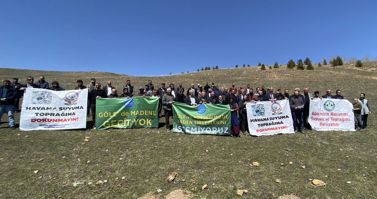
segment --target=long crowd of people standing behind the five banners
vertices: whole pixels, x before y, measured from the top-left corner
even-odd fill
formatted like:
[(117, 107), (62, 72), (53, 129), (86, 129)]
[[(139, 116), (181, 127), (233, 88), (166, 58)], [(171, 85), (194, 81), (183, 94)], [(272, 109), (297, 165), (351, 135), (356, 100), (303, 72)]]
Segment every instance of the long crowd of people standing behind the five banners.
[[(22, 85), (18, 83), (18, 78), (13, 78), (13, 82), (9, 80), (3, 81), (3, 86), (0, 88), (0, 116), (4, 112), (8, 114), (9, 127), (15, 129), (14, 126), (14, 113), (20, 112), (19, 102), (20, 98), (23, 96), (23, 91), (28, 88), (41, 88), (54, 91), (64, 91), (65, 89), (59, 86), (59, 82), (54, 81), (51, 83), (52, 87), (49, 87), (49, 83), (45, 81), (44, 76), (39, 77), (39, 81), (34, 84), (34, 77), (26, 77), (27, 84)], [(98, 98), (130, 98), (134, 96), (142, 97), (158, 97), (159, 107), (158, 107), (158, 118), (161, 117), (161, 110), (164, 110), (164, 117), (166, 123), (167, 132), (170, 132), (169, 118), (173, 117), (172, 103), (180, 102), (185, 103), (190, 106), (195, 106), (199, 104), (219, 104), (226, 105), (230, 107), (231, 111), (231, 135), (239, 137), (241, 124), (242, 134), (246, 134), (247, 129), (247, 103), (257, 103), (262, 101), (277, 101), (277, 100), (289, 100), (294, 132), (300, 131), (305, 134), (305, 130), (311, 130), (311, 126), (308, 123), (309, 117), (309, 105), (310, 99), (344, 99), (341, 95), (341, 90), (336, 90), (336, 95), (331, 94), (331, 90), (326, 90), (326, 94), (319, 97), (319, 91), (314, 91), (314, 95), (309, 93), (308, 88), (303, 89), (303, 94), (300, 94), (300, 88), (295, 88), (294, 93), (290, 95), (289, 90), (285, 89), (282, 93), (281, 89), (274, 92), (274, 88), (270, 87), (265, 90), (264, 86), (256, 87), (256, 92), (254, 93), (253, 88), (250, 84), (244, 89), (242, 85), (239, 89), (233, 82), (229, 87), (215, 86), (214, 83), (208, 85), (206, 82), (204, 88), (202, 85), (191, 84), (190, 88), (187, 89), (186, 95), (184, 95), (184, 87), (182, 83), (179, 83), (177, 89), (175, 85), (170, 83), (168, 87), (165, 88), (166, 84), (161, 83), (161, 87), (158, 89), (154, 88), (152, 80), (149, 80), (147, 84), (139, 87), (139, 91), (135, 91), (135, 87), (131, 85), (131, 81), (127, 80), (126, 85), (123, 86), (120, 95), (117, 93), (115, 87), (111, 85), (111, 81), (107, 81), (104, 87), (101, 87), (101, 83), (97, 82), (96, 79), (92, 78), (90, 84), (87, 86), (83, 85), (82, 80), (77, 80), (78, 89), (88, 88), (88, 100), (87, 100), (87, 112), (86, 117), (89, 117), (90, 110), (92, 111), (92, 120), (95, 127), (95, 110), (96, 110), (96, 99)], [(137, 88), (137, 87), (136, 87)], [(228, 92), (229, 91), (229, 92)], [(136, 92), (136, 93), (135, 93)], [(354, 122), (355, 128), (359, 129), (361, 132), (367, 127), (368, 115), (371, 113), (369, 108), (368, 100), (365, 99), (365, 94), (360, 93), (360, 98), (353, 99), (353, 111), (354, 111)], [(0, 117), (1, 123), (1, 117)]]

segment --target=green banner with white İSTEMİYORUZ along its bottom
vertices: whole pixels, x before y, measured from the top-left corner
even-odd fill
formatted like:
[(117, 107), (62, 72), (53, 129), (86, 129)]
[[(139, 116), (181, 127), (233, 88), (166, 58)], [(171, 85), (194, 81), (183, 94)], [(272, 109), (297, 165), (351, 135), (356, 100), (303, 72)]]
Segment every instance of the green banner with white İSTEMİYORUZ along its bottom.
[(185, 134), (230, 134), (230, 107), (218, 104), (190, 106), (175, 102), (173, 132)]

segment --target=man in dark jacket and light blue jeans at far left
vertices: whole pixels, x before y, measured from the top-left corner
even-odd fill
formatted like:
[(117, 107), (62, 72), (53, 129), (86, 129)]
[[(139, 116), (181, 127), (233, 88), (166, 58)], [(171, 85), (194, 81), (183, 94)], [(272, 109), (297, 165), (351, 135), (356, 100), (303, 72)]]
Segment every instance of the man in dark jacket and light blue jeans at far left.
[(4, 80), (0, 87), (0, 124), (1, 116), (4, 112), (8, 114), (9, 128), (16, 129), (14, 126), (14, 101), (17, 98), (17, 90), (11, 87), (11, 81)]

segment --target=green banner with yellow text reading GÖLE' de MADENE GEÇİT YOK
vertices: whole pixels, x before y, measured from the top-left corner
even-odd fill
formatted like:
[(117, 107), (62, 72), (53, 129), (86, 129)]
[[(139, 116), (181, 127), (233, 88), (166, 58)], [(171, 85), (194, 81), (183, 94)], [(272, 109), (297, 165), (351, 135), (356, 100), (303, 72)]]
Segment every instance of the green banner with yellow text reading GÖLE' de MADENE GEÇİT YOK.
[(96, 129), (158, 127), (158, 100), (158, 97), (98, 98)]

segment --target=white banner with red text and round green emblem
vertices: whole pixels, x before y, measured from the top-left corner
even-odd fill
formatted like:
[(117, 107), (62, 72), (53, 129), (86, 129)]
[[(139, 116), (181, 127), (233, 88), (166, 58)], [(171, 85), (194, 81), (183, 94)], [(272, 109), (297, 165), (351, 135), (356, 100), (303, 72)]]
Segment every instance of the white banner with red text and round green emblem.
[(352, 104), (348, 100), (310, 100), (308, 122), (315, 131), (355, 131)]

